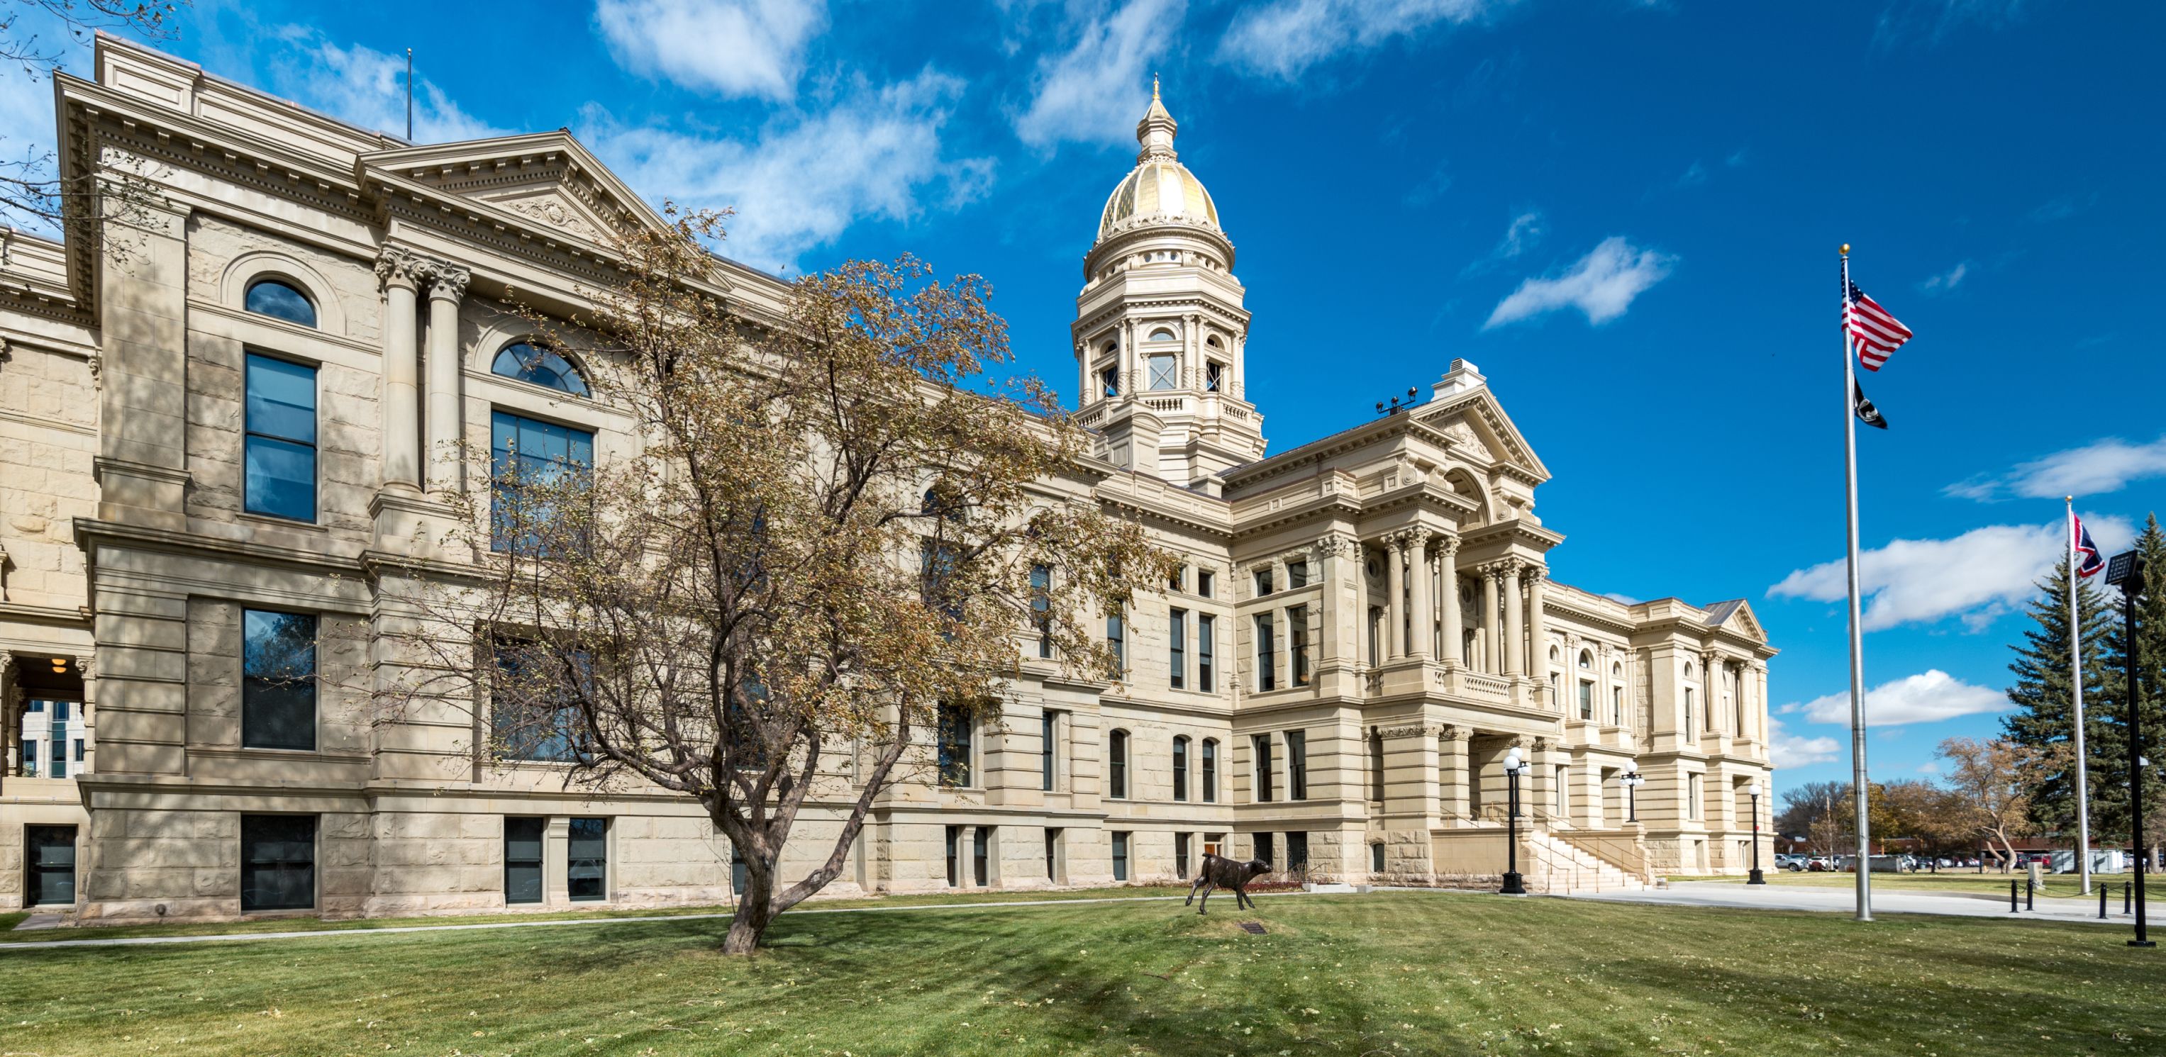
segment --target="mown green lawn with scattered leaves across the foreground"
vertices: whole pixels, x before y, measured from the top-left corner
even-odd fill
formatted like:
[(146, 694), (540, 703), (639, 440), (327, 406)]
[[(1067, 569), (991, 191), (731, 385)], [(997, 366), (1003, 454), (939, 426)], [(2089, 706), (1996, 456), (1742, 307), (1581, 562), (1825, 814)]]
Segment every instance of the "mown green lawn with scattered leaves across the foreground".
[(0, 951), (61, 1055), (2142, 1055), (2166, 953), (2038, 923), (1391, 892)]

